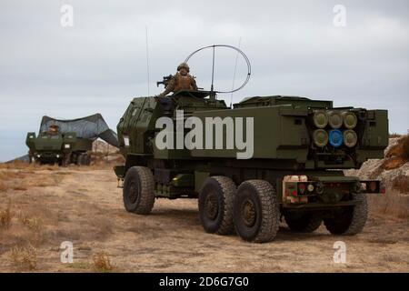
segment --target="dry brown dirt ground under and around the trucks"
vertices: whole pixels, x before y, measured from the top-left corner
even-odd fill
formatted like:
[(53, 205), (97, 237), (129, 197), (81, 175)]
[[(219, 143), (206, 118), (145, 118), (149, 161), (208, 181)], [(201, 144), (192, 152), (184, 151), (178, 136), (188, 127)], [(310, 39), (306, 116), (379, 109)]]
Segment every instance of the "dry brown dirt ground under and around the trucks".
[[(125, 212), (110, 167), (0, 168), (2, 176), (0, 272), (409, 272), (405, 216), (371, 211), (358, 236), (282, 224), (259, 245), (206, 234), (192, 199), (158, 199), (150, 216)], [(64, 241), (73, 264), (60, 261)], [(346, 244), (345, 264), (334, 263), (336, 241)]]

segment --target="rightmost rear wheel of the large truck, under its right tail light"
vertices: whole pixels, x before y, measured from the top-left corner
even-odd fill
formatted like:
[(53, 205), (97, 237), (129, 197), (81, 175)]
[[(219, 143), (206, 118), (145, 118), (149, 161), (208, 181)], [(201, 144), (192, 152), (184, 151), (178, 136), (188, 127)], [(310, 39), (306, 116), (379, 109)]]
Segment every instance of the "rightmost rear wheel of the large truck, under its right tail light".
[(368, 217), (366, 196), (362, 193), (354, 193), (352, 197), (354, 200), (360, 200), (361, 203), (344, 208), (343, 211), (335, 213), (333, 218), (324, 218), (326, 229), (333, 235), (354, 236), (364, 229)]

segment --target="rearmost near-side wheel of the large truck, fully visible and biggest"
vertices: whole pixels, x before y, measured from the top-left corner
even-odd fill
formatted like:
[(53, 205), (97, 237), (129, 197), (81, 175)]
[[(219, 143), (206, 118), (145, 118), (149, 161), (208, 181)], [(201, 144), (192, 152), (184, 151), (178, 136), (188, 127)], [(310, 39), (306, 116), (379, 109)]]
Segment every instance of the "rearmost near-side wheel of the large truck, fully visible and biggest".
[(234, 197), (233, 217), (235, 230), (244, 240), (272, 241), (280, 224), (274, 186), (264, 180), (243, 182)]

